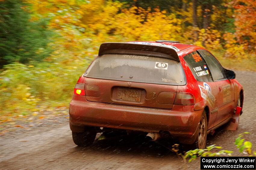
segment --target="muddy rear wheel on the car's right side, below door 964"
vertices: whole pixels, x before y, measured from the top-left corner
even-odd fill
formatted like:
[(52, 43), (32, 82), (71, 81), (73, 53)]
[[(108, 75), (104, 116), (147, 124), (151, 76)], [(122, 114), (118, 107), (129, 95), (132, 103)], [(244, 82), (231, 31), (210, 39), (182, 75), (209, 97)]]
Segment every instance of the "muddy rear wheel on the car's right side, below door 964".
[(198, 149), (204, 149), (207, 139), (207, 116), (205, 110), (202, 113), (200, 119), (200, 125), (198, 128), (198, 134), (195, 140), (194, 147)]

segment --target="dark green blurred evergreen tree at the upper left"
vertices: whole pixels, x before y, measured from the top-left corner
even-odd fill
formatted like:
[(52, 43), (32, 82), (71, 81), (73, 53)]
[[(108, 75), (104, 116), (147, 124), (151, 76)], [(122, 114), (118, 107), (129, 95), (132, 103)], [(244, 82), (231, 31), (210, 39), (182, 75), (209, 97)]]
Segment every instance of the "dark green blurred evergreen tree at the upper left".
[(47, 30), (47, 20), (30, 21), (28, 6), (20, 0), (0, 1), (0, 6), (0, 68), (49, 56), (52, 32)]

